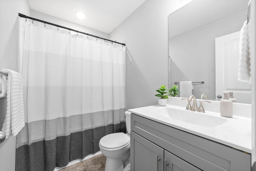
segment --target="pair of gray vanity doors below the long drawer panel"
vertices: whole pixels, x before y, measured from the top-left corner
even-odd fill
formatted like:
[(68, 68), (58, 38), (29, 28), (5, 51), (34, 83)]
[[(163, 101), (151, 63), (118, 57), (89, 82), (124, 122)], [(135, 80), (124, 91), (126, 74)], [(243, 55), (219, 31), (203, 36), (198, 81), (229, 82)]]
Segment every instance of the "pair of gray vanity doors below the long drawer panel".
[(131, 171), (201, 171), (133, 131), (131, 147)]

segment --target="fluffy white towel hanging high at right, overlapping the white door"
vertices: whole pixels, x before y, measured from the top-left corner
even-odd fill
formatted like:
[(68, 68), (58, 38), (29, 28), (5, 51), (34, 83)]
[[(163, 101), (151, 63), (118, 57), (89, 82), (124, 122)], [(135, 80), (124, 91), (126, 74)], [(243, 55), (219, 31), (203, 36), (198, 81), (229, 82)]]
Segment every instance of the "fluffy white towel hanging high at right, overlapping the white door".
[(250, 38), (251, 38), (251, 22), (244, 22), (242, 29), (240, 30), (240, 59), (238, 69), (238, 81), (250, 82)]

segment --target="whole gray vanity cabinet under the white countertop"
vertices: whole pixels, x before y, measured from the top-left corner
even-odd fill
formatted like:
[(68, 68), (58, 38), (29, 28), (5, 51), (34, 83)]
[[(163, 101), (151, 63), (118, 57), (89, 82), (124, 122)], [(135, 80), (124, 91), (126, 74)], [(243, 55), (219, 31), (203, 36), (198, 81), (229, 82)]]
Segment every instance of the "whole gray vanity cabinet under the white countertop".
[(131, 130), (131, 171), (250, 171), (248, 153), (133, 113)]

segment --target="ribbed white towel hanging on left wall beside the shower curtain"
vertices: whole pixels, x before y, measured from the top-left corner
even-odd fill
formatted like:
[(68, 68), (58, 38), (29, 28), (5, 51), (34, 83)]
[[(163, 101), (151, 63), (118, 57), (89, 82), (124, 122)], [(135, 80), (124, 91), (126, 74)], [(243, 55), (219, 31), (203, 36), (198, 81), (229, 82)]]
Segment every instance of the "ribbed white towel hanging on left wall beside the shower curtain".
[(2, 71), (8, 73), (6, 117), (2, 127), (2, 131), (6, 133), (6, 138), (8, 138), (11, 134), (16, 136), (25, 125), (23, 78), (18, 72), (6, 69)]

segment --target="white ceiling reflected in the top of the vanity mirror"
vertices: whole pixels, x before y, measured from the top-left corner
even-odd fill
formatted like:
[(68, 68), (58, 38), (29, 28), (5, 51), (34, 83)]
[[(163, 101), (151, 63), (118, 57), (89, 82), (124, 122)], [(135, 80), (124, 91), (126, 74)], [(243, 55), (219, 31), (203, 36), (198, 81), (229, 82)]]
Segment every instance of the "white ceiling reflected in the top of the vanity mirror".
[(247, 9), (248, 2), (249, 0), (193, 0), (169, 15), (169, 38)]

